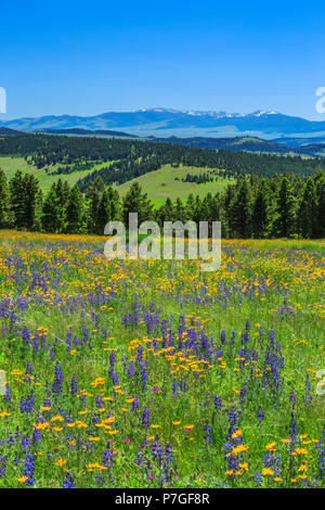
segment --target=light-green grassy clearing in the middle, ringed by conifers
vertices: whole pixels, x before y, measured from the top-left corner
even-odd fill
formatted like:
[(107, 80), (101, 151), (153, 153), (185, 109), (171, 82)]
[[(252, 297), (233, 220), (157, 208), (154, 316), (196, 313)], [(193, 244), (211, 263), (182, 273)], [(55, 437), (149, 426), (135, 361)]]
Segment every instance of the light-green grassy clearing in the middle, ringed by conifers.
[[(156, 206), (160, 206), (165, 203), (169, 196), (171, 200), (176, 200), (178, 196), (182, 200), (187, 199), (190, 193), (204, 197), (207, 193), (217, 193), (222, 191), (226, 184), (234, 182), (234, 179), (217, 178), (213, 182), (206, 182), (197, 184), (195, 182), (183, 182), (181, 179), (185, 179), (187, 174), (199, 175), (211, 170), (210, 168), (197, 168), (192, 166), (181, 166), (173, 168), (171, 165), (165, 165), (158, 170), (151, 171), (143, 176), (132, 179), (125, 184), (119, 186), (118, 192), (121, 196), (128, 192), (131, 184), (135, 181), (142, 187), (147, 193), (148, 197), (152, 199)], [(179, 180), (177, 180), (179, 179)]]

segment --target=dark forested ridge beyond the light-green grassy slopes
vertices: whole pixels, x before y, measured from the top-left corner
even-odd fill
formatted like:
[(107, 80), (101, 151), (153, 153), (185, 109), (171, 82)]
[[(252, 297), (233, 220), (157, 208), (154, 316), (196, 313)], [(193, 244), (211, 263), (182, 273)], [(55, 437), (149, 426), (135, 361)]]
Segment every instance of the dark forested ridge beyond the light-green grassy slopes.
[[(231, 176), (296, 174), (311, 176), (325, 170), (325, 158), (232, 152), (119, 138), (68, 137), (22, 133), (0, 137), (0, 154), (18, 155), (37, 168), (55, 165), (64, 175), (91, 169), (93, 163), (107, 163), (78, 182), (81, 191), (96, 177), (106, 186), (121, 184), (162, 165), (183, 165), (229, 170)], [(109, 164), (109, 165), (108, 165)]]

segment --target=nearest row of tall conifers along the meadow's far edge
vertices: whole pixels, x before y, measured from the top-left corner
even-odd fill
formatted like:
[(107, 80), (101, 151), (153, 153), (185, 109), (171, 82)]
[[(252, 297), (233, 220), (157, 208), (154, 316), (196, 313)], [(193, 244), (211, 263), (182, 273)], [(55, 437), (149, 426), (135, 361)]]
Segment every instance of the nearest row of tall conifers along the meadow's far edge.
[(128, 226), (129, 213), (139, 222), (222, 221), (224, 238), (325, 237), (325, 173), (312, 177), (295, 175), (243, 176), (223, 192), (204, 199), (190, 194), (155, 209), (138, 182), (125, 197), (98, 176), (84, 192), (61, 178), (43, 194), (38, 179), (16, 171), (8, 181), (0, 169), (0, 228), (52, 233), (103, 234), (109, 220)]

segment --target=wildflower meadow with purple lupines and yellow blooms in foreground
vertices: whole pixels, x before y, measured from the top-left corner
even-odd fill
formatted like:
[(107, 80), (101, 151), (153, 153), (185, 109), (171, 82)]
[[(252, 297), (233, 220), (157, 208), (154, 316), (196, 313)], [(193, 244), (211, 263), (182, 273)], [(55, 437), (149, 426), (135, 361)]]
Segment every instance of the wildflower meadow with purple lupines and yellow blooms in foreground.
[(0, 487), (324, 488), (325, 241), (104, 241), (0, 231)]

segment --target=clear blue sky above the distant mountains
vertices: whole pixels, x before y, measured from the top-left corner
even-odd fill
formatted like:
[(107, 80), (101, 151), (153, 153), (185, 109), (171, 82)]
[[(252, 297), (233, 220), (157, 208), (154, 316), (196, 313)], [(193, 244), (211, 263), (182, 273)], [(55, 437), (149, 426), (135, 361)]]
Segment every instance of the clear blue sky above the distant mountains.
[(325, 119), (324, 2), (5, 3), (0, 122), (154, 106)]

